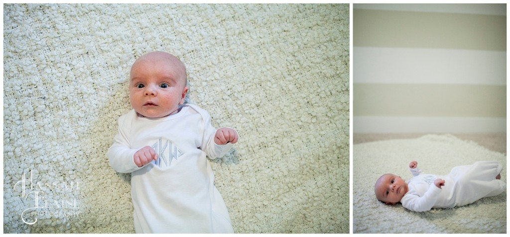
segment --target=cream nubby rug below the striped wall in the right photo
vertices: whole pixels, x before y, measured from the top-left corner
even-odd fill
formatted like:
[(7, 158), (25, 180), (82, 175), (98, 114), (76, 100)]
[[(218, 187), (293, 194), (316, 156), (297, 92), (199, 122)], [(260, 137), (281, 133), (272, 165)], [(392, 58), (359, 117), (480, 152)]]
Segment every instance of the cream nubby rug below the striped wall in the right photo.
[(354, 233), (506, 233), (506, 192), (451, 209), (411, 212), (400, 203), (391, 206), (375, 198), (374, 185), (384, 173), (409, 180), (409, 163), (418, 161), (424, 172), (448, 174), (452, 167), (479, 160), (503, 165), (506, 156), (452, 135), (425, 135), (353, 145), (353, 232)]

